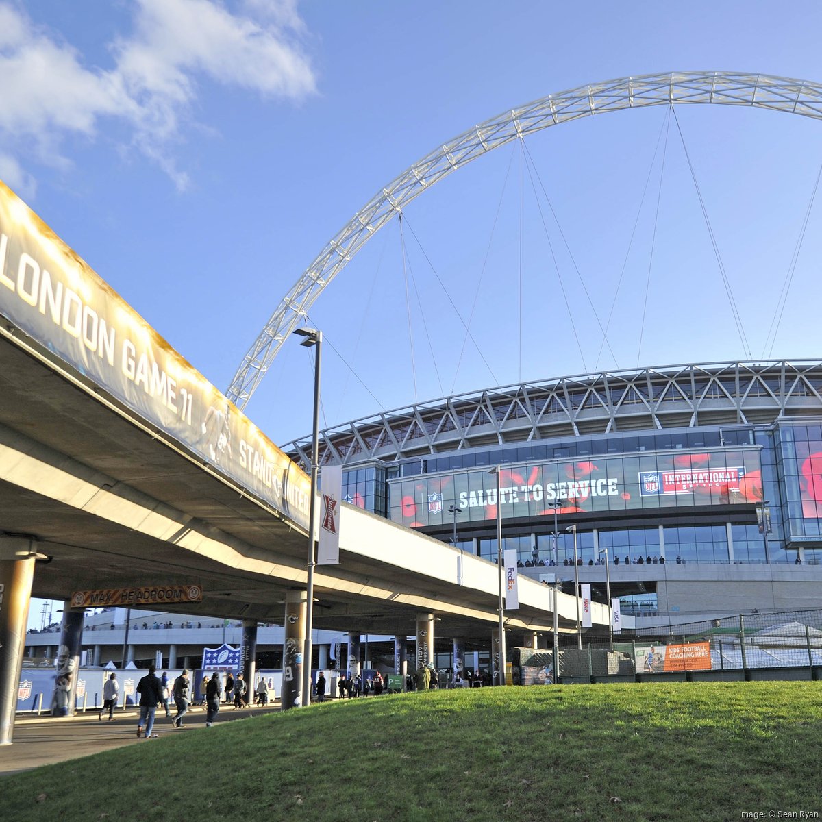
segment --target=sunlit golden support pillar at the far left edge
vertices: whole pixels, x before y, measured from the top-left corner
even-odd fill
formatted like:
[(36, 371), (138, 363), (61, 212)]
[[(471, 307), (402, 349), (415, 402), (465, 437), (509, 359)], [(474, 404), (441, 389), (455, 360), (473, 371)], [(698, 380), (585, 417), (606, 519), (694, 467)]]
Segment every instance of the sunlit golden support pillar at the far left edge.
[[(30, 546), (27, 539), (21, 542)], [(10, 551), (2, 556), (15, 553)], [(34, 576), (34, 559), (0, 559), (0, 745), (11, 745), (14, 735), (14, 712)]]

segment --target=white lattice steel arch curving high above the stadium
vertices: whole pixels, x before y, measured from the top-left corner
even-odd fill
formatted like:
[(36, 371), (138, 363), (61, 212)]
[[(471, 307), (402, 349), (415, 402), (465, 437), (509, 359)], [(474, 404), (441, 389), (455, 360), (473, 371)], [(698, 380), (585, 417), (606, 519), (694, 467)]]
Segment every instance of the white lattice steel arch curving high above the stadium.
[(377, 192), (332, 238), (270, 316), (226, 392), (239, 408), (251, 398), (284, 340), (326, 285), (415, 197), (473, 159), (528, 134), (593, 114), (654, 105), (754, 106), (822, 118), (822, 85), (764, 74), (672, 72), (584, 85), (511, 109), (455, 137)]

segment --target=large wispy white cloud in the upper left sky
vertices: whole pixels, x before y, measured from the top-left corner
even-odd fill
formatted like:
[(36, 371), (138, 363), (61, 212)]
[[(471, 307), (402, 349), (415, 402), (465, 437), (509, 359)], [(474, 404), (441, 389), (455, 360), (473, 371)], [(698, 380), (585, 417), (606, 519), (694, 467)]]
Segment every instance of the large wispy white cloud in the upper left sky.
[(302, 99), (316, 90), (296, 39), (302, 22), (293, 0), (243, 2), (240, 16), (219, 0), (136, 0), (133, 30), (109, 44), (113, 67), (104, 70), (85, 65), (76, 48), (0, 0), (3, 166), (20, 178), (26, 159), (66, 164), (66, 136), (94, 139), (101, 120), (117, 118), (185, 187), (171, 145), (191, 117), (198, 80), (266, 98)]

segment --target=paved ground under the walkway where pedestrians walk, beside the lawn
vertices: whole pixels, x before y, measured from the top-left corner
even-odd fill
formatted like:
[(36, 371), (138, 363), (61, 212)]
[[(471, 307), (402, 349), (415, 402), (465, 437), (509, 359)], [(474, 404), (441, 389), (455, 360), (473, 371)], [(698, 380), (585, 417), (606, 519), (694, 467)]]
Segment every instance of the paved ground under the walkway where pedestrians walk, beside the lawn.
[[(229, 722), (249, 716), (261, 716), (279, 711), (279, 701), (266, 708), (235, 709), (233, 705), (220, 705), (217, 722)], [(136, 737), (139, 711), (127, 709), (114, 712), (113, 721), (89, 711), (76, 717), (25, 717), (18, 715), (14, 726), (12, 745), (0, 746), (0, 778), (8, 774), (38, 768), (40, 765), (74, 760), (80, 756), (133, 745)], [(162, 739), (166, 734), (197, 733), (205, 728), (205, 708), (189, 709), (183, 722), (186, 727), (175, 730), (162, 709), (155, 722), (155, 733)], [(153, 743), (152, 743), (153, 744)]]

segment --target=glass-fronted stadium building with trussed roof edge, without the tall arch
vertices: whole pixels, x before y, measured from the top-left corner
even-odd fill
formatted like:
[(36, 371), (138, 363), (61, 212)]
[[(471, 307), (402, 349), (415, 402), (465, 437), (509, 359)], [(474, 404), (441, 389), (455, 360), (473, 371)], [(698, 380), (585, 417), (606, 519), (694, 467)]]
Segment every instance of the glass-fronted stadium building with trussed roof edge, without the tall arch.
[[(311, 437), (284, 450), (308, 464)], [(488, 388), (327, 429), (319, 453), (349, 503), (490, 561), (499, 504), (520, 574), (572, 592), (576, 566), (637, 629), (819, 607), (819, 360)]]

